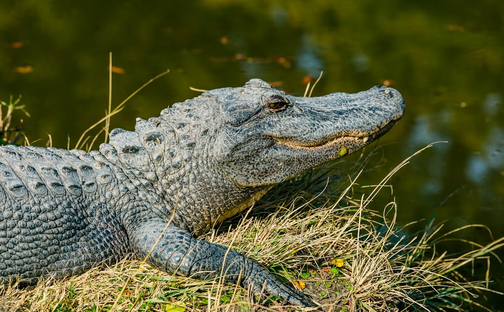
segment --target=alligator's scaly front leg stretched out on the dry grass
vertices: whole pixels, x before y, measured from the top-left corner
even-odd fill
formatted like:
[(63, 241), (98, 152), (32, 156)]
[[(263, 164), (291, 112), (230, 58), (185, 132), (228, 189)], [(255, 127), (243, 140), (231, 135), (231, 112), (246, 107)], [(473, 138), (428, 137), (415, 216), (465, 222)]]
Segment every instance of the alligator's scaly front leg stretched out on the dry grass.
[(310, 306), (302, 293), (278, 281), (260, 264), (234, 250), (228, 252), (227, 247), (195, 239), (179, 227), (166, 226), (162, 221), (145, 221), (132, 231), (130, 242), (139, 257), (149, 255), (147, 262), (165, 272), (197, 279), (217, 277), (223, 272), (224, 281), (235, 284), (241, 274), (241, 285), (245, 287), (251, 285), (255, 291), (264, 287), (267, 293), (292, 304)]

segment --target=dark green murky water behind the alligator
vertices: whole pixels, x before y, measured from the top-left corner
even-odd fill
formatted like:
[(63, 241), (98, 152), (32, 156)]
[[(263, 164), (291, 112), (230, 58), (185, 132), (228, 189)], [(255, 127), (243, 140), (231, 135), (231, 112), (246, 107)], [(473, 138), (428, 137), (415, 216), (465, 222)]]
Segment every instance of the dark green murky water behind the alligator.
[[(379, 182), (434, 141), (391, 183), (401, 224), (450, 219), (449, 227), (487, 225), (504, 236), (504, 2), (2, 1), (0, 100), (22, 95), (27, 136), (74, 146), (108, 106), (154, 75), (170, 73), (128, 102), (112, 127), (158, 116), (198, 95), (190, 86), (243, 85), (251, 77), (302, 95), (303, 77), (324, 76), (314, 91), (357, 92), (388, 82), (407, 103), (405, 117), (383, 137), (372, 160)], [(28, 71), (28, 72), (24, 72)], [(17, 120), (17, 121), (16, 121)], [(16, 123), (17, 122), (17, 123)], [(352, 159), (352, 156), (348, 158)], [(383, 209), (389, 196), (379, 198)], [(439, 208), (439, 209), (438, 209)], [(438, 209), (438, 210), (437, 210)], [(487, 242), (485, 231), (467, 232)], [(499, 255), (504, 255), (502, 251)], [(485, 262), (486, 263), (486, 262)], [(495, 268), (494, 288), (504, 276)], [(490, 299), (488, 306), (502, 298)], [(493, 301), (492, 301), (493, 300)], [(498, 306), (498, 305), (497, 305)]]

